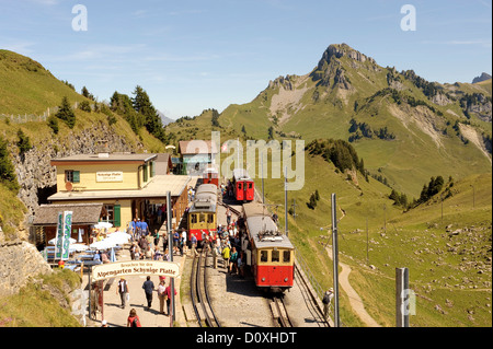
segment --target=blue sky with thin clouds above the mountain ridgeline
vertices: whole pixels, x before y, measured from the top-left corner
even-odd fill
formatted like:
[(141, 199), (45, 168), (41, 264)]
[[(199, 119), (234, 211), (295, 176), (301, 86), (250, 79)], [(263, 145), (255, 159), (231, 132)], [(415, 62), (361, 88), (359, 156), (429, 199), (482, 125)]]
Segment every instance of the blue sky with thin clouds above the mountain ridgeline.
[[(73, 31), (76, 4), (88, 31)], [(416, 30), (402, 31), (404, 4)], [(0, 48), (39, 61), (100, 101), (137, 84), (171, 118), (252, 101), (346, 43), (429, 81), (491, 73), (492, 1), (0, 0)]]

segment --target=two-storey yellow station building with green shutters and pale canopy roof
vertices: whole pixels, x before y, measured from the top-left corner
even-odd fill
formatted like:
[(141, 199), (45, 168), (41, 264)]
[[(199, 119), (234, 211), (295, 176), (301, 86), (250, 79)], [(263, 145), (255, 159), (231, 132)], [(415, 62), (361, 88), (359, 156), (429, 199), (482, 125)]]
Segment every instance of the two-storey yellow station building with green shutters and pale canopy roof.
[[(165, 159), (168, 163), (169, 158)], [(157, 161), (158, 154), (147, 153), (99, 153), (53, 159), (51, 166), (57, 171), (57, 193), (48, 197), (48, 201), (57, 205), (102, 203), (101, 221), (125, 229), (135, 218), (157, 223), (158, 210), (165, 206), (167, 193), (170, 191), (172, 222), (177, 226), (188, 203), (191, 177), (158, 175)]]

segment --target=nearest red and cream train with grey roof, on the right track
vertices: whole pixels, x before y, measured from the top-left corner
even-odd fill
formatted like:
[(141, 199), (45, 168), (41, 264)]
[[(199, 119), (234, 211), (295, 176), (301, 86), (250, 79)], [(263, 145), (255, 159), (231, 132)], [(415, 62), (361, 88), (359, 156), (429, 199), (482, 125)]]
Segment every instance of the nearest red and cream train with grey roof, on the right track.
[(244, 224), (249, 239), (246, 263), (255, 284), (272, 292), (284, 292), (295, 279), (295, 247), (283, 235), (262, 203), (243, 205)]

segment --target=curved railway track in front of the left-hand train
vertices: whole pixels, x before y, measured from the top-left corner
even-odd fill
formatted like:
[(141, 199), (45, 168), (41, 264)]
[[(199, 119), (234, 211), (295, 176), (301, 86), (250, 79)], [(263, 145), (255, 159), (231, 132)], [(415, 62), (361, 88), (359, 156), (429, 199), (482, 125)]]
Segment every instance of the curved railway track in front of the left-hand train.
[(200, 327), (221, 327), (217, 319), (207, 292), (207, 253), (198, 252), (194, 256), (191, 275), (191, 298), (195, 316)]

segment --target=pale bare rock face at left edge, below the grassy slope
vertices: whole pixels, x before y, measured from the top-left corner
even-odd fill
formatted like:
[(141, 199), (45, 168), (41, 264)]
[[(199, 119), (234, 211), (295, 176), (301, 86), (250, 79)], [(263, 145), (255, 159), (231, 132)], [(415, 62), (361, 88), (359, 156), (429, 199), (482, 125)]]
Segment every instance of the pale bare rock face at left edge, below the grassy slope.
[(0, 243), (0, 296), (15, 294), (31, 278), (50, 272), (34, 245), (19, 240)]

